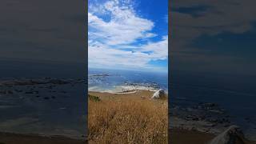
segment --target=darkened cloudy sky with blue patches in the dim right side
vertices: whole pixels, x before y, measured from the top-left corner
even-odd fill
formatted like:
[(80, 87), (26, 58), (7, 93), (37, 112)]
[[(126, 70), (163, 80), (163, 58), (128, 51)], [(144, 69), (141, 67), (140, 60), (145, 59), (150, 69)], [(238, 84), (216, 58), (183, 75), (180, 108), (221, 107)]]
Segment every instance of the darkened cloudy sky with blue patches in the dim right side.
[(254, 0), (182, 0), (171, 6), (171, 70), (256, 74)]

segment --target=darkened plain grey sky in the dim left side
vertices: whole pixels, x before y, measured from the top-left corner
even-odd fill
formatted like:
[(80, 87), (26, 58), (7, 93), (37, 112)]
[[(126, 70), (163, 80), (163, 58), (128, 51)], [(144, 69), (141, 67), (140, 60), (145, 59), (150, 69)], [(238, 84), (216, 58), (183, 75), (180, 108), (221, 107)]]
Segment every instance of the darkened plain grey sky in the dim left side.
[(85, 2), (2, 0), (0, 59), (85, 64)]

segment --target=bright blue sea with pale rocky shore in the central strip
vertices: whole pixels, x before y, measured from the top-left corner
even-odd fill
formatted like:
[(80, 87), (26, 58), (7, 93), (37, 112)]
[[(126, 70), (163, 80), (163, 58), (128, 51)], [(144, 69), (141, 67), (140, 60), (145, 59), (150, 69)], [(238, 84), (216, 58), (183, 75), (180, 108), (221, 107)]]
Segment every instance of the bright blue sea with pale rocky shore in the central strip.
[(168, 74), (154, 71), (89, 69), (88, 90), (124, 92), (130, 90), (168, 91)]

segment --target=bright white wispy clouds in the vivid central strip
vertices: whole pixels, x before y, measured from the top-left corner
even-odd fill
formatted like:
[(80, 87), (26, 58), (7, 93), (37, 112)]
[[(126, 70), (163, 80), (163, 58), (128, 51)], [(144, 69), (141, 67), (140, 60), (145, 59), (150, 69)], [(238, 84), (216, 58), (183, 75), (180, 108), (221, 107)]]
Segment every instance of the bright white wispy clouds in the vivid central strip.
[(131, 2), (89, 4), (90, 67), (146, 69), (154, 67), (151, 61), (167, 58), (167, 36), (153, 33), (154, 22), (137, 14)]

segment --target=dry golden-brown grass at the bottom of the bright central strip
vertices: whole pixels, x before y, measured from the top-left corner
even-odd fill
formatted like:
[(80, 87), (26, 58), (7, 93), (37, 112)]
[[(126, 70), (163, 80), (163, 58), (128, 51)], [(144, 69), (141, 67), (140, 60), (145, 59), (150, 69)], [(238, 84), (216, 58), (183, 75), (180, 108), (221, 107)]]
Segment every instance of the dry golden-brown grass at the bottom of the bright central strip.
[(167, 102), (161, 101), (89, 100), (89, 143), (167, 143)]

